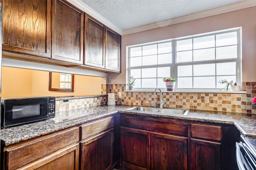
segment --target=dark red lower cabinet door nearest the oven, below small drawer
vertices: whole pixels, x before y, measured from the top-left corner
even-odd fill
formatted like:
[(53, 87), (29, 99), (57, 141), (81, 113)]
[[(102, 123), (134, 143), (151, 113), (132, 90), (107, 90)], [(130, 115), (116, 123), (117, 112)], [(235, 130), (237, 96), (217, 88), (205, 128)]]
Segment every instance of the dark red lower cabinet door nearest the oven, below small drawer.
[(220, 170), (221, 143), (191, 139), (191, 169)]

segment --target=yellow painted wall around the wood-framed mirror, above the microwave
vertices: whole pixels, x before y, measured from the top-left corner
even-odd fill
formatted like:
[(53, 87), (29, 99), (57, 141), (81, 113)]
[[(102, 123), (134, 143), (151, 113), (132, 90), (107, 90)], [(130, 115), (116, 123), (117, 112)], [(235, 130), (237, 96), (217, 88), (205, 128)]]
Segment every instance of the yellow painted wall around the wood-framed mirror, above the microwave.
[(16, 96), (87, 96), (101, 94), (106, 78), (74, 76), (74, 92), (49, 91), (49, 72), (2, 67), (2, 98)]

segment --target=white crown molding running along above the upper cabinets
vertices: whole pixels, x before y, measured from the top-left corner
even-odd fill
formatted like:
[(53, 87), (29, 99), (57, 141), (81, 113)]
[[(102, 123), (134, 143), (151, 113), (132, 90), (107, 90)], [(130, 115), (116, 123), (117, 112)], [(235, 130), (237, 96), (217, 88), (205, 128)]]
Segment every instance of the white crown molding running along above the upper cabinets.
[(94, 11), (92, 8), (90, 8), (90, 6), (84, 4), (82, 1), (80, 1), (80, 0), (67, 0), (67, 1), (70, 2), (71, 4), (73, 4), (74, 6), (76, 6), (77, 8), (79, 8), (80, 10), (86, 12), (87, 14), (89, 14), (90, 16), (95, 18), (96, 20), (100, 21), (107, 27), (113, 29), (120, 35), (122, 34), (122, 29), (120, 29), (119, 27), (114, 25), (114, 23), (110, 22), (109, 20), (107, 20), (106, 18), (101, 16), (98, 12)]

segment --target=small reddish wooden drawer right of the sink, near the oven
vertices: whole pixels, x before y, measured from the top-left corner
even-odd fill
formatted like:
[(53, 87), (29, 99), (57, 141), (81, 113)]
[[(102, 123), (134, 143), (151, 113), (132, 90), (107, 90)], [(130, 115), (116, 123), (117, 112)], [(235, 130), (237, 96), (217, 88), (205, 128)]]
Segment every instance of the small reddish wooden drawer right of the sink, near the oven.
[(221, 126), (191, 124), (191, 137), (221, 141)]

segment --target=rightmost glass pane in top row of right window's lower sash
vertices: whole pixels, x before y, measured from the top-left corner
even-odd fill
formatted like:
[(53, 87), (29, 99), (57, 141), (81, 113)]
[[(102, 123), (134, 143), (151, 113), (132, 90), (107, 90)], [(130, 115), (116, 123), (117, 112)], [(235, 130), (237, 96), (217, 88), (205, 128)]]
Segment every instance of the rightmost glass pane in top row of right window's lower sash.
[(217, 75), (235, 75), (236, 74), (236, 63), (217, 63), (216, 64)]

